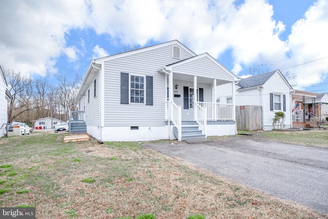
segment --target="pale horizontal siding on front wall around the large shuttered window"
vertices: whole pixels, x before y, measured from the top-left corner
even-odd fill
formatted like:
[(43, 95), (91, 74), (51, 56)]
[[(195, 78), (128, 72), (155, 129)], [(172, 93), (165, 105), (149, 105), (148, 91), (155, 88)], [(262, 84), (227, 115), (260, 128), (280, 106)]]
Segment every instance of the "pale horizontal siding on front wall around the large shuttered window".
[[(176, 45), (178, 46), (178, 45)], [(181, 48), (181, 58), (191, 55)], [(109, 126), (163, 126), (165, 120), (165, 75), (157, 70), (178, 62), (172, 58), (172, 45), (140, 52), (105, 62), (105, 127)], [(153, 105), (120, 104), (120, 73), (153, 76)], [(146, 97), (146, 96), (145, 96)], [(146, 98), (145, 98), (146, 101)], [(146, 102), (145, 102), (146, 103)]]

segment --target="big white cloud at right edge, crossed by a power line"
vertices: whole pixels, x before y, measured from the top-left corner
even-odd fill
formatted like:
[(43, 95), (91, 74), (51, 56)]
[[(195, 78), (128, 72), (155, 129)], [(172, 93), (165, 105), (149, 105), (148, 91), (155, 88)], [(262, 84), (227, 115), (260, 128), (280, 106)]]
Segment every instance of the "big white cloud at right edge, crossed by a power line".
[[(319, 0), (292, 27), (287, 45), (292, 51), (289, 62), (291, 67), (328, 56), (328, 3)], [(297, 75), (301, 85), (320, 83), (328, 73), (328, 58), (295, 68), (286, 69)]]

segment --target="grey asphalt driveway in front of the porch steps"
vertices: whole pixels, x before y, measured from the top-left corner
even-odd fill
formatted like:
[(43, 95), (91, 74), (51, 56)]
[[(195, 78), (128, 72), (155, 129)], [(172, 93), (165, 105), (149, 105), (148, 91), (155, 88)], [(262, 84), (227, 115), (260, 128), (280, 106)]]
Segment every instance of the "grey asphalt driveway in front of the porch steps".
[(269, 142), (244, 135), (143, 147), (180, 157), (250, 188), (328, 214), (328, 148)]

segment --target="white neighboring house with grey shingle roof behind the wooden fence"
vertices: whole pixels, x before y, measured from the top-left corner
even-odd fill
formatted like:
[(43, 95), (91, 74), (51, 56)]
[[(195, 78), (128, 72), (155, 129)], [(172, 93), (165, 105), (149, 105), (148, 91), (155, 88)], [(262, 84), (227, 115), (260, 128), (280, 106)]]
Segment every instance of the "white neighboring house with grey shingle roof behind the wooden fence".
[[(217, 103), (233, 102), (229, 85), (220, 85), (217, 90)], [(263, 130), (273, 129), (275, 112), (285, 114), (284, 127), (292, 127), (291, 93), (293, 89), (279, 70), (240, 78), (235, 86), (236, 106), (261, 106)], [(238, 118), (237, 118), (238, 120)]]

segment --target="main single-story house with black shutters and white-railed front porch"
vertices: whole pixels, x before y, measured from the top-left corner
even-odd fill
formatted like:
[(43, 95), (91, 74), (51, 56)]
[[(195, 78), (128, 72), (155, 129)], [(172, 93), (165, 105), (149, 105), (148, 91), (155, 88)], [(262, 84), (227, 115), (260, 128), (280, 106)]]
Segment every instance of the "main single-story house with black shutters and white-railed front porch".
[(215, 100), (217, 85), (233, 92), (237, 79), (208, 53), (174, 40), (95, 59), (76, 101), (87, 132), (101, 141), (232, 135), (234, 105)]

